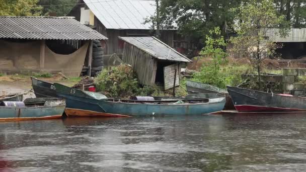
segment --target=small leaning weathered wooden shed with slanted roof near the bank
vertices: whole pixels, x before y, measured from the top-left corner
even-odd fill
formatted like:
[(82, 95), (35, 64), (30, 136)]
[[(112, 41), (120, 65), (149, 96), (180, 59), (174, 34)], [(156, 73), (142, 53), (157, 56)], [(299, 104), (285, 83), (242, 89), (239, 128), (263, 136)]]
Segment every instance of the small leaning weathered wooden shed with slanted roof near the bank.
[(123, 43), (122, 60), (133, 67), (144, 85), (163, 84), (164, 89), (179, 85), (181, 64), (186, 56), (155, 37), (118, 37)]

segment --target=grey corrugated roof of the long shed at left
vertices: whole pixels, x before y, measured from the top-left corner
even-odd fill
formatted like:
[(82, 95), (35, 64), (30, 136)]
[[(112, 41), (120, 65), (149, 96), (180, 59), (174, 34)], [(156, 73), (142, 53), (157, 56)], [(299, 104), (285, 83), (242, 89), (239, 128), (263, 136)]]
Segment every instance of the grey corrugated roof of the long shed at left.
[(0, 16), (0, 38), (106, 40), (71, 17)]

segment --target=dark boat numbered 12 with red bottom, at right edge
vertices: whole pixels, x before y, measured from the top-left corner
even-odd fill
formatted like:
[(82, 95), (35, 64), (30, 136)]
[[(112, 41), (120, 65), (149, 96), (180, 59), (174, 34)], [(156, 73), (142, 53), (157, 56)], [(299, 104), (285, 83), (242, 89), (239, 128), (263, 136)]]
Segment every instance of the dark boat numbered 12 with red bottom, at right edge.
[(306, 99), (255, 90), (227, 87), (238, 112), (303, 112)]

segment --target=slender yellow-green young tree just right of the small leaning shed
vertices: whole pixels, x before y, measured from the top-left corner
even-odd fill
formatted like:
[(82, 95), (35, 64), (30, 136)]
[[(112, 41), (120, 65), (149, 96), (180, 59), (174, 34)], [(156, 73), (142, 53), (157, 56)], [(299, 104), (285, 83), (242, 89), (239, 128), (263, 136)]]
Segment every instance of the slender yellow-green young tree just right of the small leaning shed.
[(204, 64), (200, 72), (193, 75), (193, 79), (199, 82), (215, 85), (219, 88), (225, 88), (223, 74), (220, 71), (220, 65), (224, 62), (227, 54), (224, 52), (226, 43), (221, 36), (220, 28), (216, 27), (206, 35), (206, 46), (200, 52), (201, 55), (212, 57), (212, 63)]

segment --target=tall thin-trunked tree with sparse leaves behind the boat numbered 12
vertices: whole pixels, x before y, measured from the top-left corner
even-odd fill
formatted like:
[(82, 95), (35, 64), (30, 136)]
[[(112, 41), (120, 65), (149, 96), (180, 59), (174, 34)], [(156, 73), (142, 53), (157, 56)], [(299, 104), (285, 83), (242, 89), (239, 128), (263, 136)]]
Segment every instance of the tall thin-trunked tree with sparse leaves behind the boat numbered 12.
[[(231, 38), (235, 45), (232, 51), (241, 53), (251, 60), (253, 67), (257, 69), (258, 86), (261, 89), (261, 61), (273, 54), (279, 46), (267, 39), (267, 33), (272, 28), (279, 28), (285, 17), (277, 15), (271, 0), (251, 1), (233, 10), (238, 16), (235, 26), (237, 37)], [(279, 28), (281, 36), (286, 36), (286, 33), (286, 28)]]

